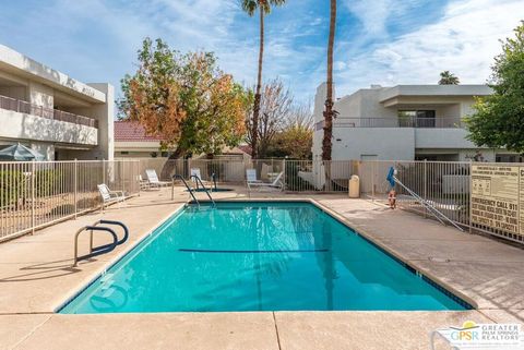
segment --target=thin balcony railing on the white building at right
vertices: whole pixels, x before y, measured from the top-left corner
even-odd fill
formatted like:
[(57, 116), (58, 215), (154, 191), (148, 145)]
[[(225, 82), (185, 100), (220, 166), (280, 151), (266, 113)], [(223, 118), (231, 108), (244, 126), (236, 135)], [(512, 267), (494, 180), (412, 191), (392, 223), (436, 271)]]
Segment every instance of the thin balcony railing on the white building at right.
[[(315, 123), (315, 130), (322, 130), (324, 121)], [(337, 117), (333, 128), (429, 128), (463, 129), (464, 121), (460, 117), (391, 117), (391, 118), (347, 118)]]

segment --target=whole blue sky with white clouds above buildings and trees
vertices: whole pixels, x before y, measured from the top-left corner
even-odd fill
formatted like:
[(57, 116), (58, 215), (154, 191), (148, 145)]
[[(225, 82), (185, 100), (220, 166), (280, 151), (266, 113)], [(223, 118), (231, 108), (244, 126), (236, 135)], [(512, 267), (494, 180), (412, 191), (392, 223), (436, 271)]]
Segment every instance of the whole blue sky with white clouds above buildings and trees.
[[(449, 70), (486, 83), (500, 39), (524, 20), (523, 0), (338, 0), (337, 97), (371, 84), (436, 84)], [(299, 102), (325, 81), (329, 0), (287, 0), (266, 16), (264, 81), (279, 77)], [(214, 51), (252, 86), (259, 20), (240, 0), (0, 0), (0, 44), (85, 83), (133, 73), (144, 37), (180, 51)]]

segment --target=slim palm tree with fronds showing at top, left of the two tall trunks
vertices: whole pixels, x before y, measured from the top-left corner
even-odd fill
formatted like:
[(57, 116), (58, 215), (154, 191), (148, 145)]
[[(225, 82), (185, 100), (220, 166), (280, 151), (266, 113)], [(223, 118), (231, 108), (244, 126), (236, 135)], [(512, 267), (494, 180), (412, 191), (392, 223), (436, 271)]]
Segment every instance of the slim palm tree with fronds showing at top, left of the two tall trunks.
[(257, 10), (260, 13), (260, 49), (259, 49), (259, 73), (257, 76), (257, 89), (254, 93), (253, 105), (253, 120), (251, 124), (251, 157), (257, 158), (258, 147), (258, 130), (259, 130), (259, 113), (260, 113), (260, 99), (262, 89), (262, 60), (264, 57), (264, 15), (271, 12), (272, 5), (282, 5), (286, 0), (241, 0), (242, 10), (250, 16), (254, 15)]

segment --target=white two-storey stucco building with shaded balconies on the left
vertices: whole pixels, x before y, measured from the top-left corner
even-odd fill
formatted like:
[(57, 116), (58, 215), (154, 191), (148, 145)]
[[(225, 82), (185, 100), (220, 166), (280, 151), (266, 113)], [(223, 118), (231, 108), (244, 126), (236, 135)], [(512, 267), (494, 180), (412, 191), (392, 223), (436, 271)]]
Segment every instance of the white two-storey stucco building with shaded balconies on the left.
[(0, 45), (0, 147), (48, 160), (112, 159), (114, 87), (81, 83)]

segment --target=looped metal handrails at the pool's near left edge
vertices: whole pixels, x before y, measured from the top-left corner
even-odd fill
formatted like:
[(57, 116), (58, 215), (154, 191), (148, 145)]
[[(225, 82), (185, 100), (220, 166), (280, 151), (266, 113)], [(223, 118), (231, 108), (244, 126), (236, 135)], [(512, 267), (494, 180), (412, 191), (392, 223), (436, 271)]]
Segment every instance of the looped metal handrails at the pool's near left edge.
[[(98, 225), (116, 225), (120, 226), (123, 229), (123, 237), (122, 239), (118, 239), (117, 233), (112, 228), (109, 228), (107, 226), (98, 226)], [(90, 237), (90, 253), (85, 255), (79, 256), (79, 236), (82, 232), (90, 231), (91, 237)], [(100, 231), (100, 232), (108, 232), (112, 237), (112, 242), (108, 244), (103, 244), (93, 248), (93, 231)], [(76, 231), (76, 234), (74, 236), (74, 256), (73, 256), (73, 267), (75, 267), (80, 261), (87, 260), (97, 255), (102, 255), (105, 253), (109, 253), (117, 248), (117, 245), (126, 243), (126, 241), (129, 238), (129, 229), (126, 225), (123, 225), (120, 221), (116, 220), (98, 220), (94, 222), (93, 225), (84, 226), (80, 230)]]

